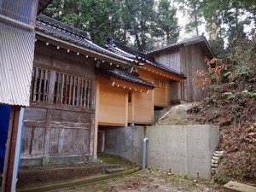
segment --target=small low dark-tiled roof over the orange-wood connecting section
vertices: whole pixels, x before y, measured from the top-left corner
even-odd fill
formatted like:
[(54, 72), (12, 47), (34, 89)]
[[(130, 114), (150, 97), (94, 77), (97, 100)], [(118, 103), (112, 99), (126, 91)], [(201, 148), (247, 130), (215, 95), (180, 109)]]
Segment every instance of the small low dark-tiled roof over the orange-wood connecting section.
[(121, 69), (117, 69), (117, 68), (113, 68), (113, 69), (96, 68), (96, 71), (105, 73), (105, 74), (112, 76), (116, 79), (121, 79), (121, 80), (125, 80), (127, 82), (131, 82), (133, 84), (141, 84), (144, 86), (154, 88), (154, 84), (151, 84), (148, 81), (140, 79), (137, 75), (135, 75), (133, 73), (129, 73), (125, 70), (121, 70)]

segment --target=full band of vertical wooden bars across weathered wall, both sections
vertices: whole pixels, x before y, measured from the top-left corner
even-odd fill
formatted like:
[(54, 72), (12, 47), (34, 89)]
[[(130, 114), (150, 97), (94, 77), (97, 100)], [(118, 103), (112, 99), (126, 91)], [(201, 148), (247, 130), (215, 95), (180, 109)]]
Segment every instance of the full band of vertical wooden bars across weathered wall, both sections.
[(49, 77), (54, 77), (53, 103), (92, 108), (92, 82), (67, 73), (34, 67), (32, 72), (32, 102), (49, 102)]

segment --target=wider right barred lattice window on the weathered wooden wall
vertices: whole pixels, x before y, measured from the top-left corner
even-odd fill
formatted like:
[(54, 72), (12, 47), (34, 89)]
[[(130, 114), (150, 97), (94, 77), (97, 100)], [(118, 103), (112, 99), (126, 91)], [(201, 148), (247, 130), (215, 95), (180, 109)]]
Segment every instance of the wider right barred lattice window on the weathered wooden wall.
[(54, 103), (91, 108), (92, 82), (89, 79), (56, 73)]

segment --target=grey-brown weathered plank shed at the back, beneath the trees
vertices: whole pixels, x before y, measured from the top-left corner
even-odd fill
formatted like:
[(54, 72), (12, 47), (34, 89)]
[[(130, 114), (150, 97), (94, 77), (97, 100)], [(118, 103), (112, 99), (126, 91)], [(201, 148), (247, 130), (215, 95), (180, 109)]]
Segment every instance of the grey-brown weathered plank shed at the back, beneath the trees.
[[(212, 59), (214, 53), (207, 42), (207, 38), (197, 36), (185, 39), (166, 47), (148, 52), (154, 56), (155, 61), (159, 61), (166, 67), (172, 67), (178, 72), (184, 73), (187, 77), (182, 84), (172, 81), (171, 100), (172, 102), (199, 102), (207, 96), (208, 90), (201, 90), (192, 83), (191, 78), (195, 78), (193, 67), (197, 70), (207, 70), (205, 57)], [(181, 90), (181, 92), (179, 92)]]

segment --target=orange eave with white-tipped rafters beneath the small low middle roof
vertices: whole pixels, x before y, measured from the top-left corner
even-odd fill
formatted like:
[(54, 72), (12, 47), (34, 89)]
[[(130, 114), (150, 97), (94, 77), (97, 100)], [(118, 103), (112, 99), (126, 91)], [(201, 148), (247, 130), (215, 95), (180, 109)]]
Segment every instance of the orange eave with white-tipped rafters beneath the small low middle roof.
[(96, 75), (98, 76), (98, 79), (104, 84), (108, 84), (110, 86), (114, 86), (122, 90), (148, 93), (148, 90), (154, 89), (154, 87), (145, 86), (143, 84), (134, 84), (97, 71)]

